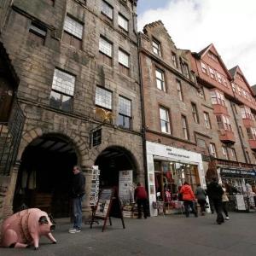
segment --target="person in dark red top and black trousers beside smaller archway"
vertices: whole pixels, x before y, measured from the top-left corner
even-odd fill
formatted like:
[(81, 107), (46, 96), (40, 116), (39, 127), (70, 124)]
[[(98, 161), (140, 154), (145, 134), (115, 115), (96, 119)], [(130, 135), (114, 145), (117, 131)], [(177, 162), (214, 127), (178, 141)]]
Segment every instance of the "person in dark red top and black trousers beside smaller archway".
[(148, 194), (146, 189), (141, 185), (141, 183), (137, 183), (137, 188), (134, 190), (134, 198), (137, 202), (137, 218), (142, 218), (142, 206), (144, 218), (148, 217)]

